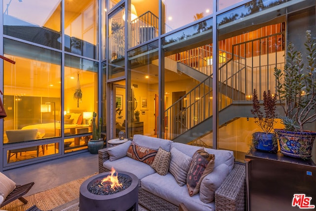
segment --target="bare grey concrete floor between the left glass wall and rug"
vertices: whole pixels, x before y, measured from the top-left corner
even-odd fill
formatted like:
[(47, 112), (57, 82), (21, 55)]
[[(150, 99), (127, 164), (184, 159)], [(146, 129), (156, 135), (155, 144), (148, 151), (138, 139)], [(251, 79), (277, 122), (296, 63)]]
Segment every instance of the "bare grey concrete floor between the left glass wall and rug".
[[(16, 184), (35, 182), (28, 194), (25, 195), (28, 196), (98, 172), (98, 155), (83, 152), (64, 158), (5, 170), (2, 173), (15, 181)], [(148, 211), (142, 206), (139, 206), (138, 210)]]

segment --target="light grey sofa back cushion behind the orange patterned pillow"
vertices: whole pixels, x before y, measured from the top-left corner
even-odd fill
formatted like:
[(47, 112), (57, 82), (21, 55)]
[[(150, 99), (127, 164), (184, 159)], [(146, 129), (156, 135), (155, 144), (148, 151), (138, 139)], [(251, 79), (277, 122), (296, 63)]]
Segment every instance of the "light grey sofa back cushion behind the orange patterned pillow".
[(170, 152), (170, 146), (171, 146), (171, 143), (173, 143), (173, 141), (170, 141), (170, 140), (150, 137), (146, 135), (139, 135), (139, 134), (136, 134), (133, 136), (133, 141), (138, 146), (148, 147), (157, 151), (159, 147), (161, 147), (162, 149), (168, 152)]

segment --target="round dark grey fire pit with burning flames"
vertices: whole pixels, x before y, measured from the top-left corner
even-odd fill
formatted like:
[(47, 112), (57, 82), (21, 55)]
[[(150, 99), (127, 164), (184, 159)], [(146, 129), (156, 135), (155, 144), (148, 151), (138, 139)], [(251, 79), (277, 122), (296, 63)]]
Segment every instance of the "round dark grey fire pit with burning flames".
[[(97, 174), (81, 184), (79, 211), (138, 211), (138, 178), (129, 172), (114, 172)], [(113, 176), (121, 185), (108, 181)]]

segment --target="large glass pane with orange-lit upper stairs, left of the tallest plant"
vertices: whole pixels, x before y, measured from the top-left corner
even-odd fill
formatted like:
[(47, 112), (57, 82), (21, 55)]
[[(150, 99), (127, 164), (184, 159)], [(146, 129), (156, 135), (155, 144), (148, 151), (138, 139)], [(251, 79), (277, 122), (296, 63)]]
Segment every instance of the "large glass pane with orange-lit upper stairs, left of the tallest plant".
[[(275, 93), (274, 68), (284, 68), (286, 9), (278, 0), (251, 1), (217, 18), (217, 147), (233, 150), (237, 161), (243, 162), (252, 133), (261, 131), (249, 118), (253, 116), (252, 91), (257, 90), (259, 100), (263, 100), (264, 91)], [(251, 16), (251, 24), (247, 18), (240, 18), (246, 16)], [(227, 62), (222, 63), (223, 59)], [(281, 110), (277, 112), (282, 114)], [(275, 128), (283, 128), (279, 120)]]

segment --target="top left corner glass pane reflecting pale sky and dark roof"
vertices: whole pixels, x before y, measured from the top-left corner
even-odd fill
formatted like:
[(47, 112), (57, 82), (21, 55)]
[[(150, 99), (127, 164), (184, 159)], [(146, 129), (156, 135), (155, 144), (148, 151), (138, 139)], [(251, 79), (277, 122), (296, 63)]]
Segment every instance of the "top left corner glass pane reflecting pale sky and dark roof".
[(4, 35), (61, 49), (60, 0), (2, 2)]

